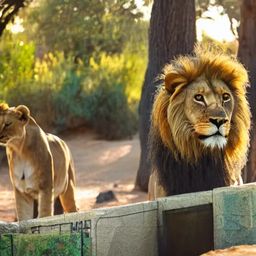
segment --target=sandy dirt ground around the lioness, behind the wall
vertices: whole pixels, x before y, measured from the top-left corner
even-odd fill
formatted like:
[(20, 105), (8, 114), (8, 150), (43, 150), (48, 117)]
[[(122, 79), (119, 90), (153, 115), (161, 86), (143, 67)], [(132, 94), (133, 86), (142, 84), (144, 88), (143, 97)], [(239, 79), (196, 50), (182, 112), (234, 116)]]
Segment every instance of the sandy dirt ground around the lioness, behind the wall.
[[(147, 200), (145, 192), (133, 190), (140, 155), (137, 135), (132, 140), (105, 141), (87, 129), (77, 129), (61, 138), (73, 155), (79, 211)], [(114, 191), (117, 200), (96, 204), (99, 192), (109, 189)], [(8, 165), (3, 162), (0, 166), (0, 220), (13, 221), (14, 216)]]

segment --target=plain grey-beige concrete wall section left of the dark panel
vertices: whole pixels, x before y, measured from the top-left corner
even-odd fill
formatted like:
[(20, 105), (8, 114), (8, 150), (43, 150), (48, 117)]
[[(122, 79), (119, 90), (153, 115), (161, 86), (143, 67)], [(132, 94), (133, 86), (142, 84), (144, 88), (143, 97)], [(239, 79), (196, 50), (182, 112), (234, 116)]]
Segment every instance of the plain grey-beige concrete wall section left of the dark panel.
[[(21, 221), (24, 233), (38, 226), (91, 221), (91, 250), (97, 256), (157, 255), (157, 202), (142, 202), (124, 206), (70, 213)], [(69, 227), (68, 227), (69, 228)], [(67, 229), (68, 229), (67, 228)], [(59, 232), (58, 228), (39, 227), (40, 234)]]

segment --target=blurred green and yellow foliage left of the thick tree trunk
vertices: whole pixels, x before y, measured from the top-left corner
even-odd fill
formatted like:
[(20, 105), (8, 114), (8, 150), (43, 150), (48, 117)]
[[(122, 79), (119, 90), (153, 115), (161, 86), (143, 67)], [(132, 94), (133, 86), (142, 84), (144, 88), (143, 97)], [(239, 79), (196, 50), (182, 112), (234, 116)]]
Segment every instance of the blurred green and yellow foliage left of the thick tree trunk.
[(47, 132), (88, 124), (130, 137), (147, 64), (141, 15), (134, 0), (34, 0), (24, 31), (1, 37), (0, 100), (26, 105)]

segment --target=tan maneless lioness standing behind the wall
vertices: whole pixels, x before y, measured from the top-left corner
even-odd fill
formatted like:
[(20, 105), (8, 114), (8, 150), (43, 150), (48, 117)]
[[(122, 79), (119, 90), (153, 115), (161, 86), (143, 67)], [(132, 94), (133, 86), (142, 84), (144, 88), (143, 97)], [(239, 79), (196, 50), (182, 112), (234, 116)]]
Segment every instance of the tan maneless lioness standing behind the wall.
[(26, 106), (0, 104), (0, 143), (6, 146), (18, 221), (33, 218), (34, 200), (38, 218), (53, 215), (57, 197), (65, 213), (77, 211), (71, 152), (63, 140), (42, 131)]

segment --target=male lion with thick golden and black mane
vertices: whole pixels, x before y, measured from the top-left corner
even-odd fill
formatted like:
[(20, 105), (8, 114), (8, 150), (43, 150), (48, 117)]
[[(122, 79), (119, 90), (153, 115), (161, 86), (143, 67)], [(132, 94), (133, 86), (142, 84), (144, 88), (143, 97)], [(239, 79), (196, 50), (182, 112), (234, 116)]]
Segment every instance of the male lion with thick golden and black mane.
[(233, 55), (197, 45), (191, 56), (166, 64), (158, 79), (148, 200), (242, 184), (250, 129), (242, 64)]

